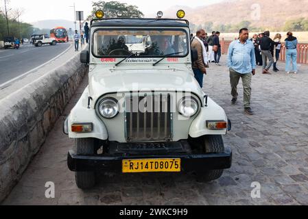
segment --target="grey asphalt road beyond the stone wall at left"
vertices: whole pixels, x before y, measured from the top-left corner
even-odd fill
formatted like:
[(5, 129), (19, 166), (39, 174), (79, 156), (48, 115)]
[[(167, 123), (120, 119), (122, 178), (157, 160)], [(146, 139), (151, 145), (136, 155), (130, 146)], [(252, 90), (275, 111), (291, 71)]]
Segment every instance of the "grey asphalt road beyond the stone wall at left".
[(63, 53), (71, 47), (70, 43), (49, 44), (43, 47), (34, 47), (32, 44), (24, 44), (18, 50), (6, 49), (0, 50), (0, 86), (29, 70), (32, 70), (57, 55)]

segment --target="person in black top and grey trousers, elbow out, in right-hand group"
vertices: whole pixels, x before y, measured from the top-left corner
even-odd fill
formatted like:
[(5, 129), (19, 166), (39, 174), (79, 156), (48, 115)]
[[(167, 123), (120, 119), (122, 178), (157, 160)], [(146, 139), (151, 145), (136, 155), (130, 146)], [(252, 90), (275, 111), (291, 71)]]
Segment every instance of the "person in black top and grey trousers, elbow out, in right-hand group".
[[(270, 67), (274, 63), (274, 58), (271, 53), (271, 47), (276, 44), (270, 38), (270, 31), (264, 31), (264, 36), (260, 39), (260, 47), (262, 54), (262, 62), (263, 62), (263, 74), (269, 74)], [(277, 43), (278, 44), (278, 43)], [(270, 62), (267, 64), (267, 60)]]

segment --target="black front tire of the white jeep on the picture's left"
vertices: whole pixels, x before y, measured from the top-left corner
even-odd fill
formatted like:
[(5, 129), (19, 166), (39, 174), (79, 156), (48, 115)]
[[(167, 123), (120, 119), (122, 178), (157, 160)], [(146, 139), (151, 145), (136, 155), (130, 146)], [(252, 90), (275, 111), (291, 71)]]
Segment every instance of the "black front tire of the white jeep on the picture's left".
[[(75, 139), (76, 155), (93, 155), (94, 154), (94, 138), (77, 138)], [(93, 188), (96, 182), (95, 172), (78, 171), (75, 172), (75, 181), (78, 188), (85, 190)]]

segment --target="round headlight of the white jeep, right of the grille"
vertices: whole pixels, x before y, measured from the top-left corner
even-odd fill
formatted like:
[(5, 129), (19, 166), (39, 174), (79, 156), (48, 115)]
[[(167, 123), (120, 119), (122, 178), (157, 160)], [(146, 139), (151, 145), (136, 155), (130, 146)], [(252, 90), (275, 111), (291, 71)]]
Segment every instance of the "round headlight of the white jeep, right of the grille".
[(178, 112), (185, 117), (194, 116), (198, 112), (198, 102), (190, 96), (186, 96), (178, 101)]

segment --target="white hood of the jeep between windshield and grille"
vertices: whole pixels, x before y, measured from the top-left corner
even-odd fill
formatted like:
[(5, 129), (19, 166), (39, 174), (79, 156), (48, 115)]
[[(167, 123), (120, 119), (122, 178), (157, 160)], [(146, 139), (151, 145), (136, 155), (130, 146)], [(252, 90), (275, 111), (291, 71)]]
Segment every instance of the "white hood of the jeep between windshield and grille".
[(104, 94), (114, 92), (187, 91), (202, 99), (203, 92), (188, 70), (115, 70), (89, 75), (89, 94), (97, 101)]

